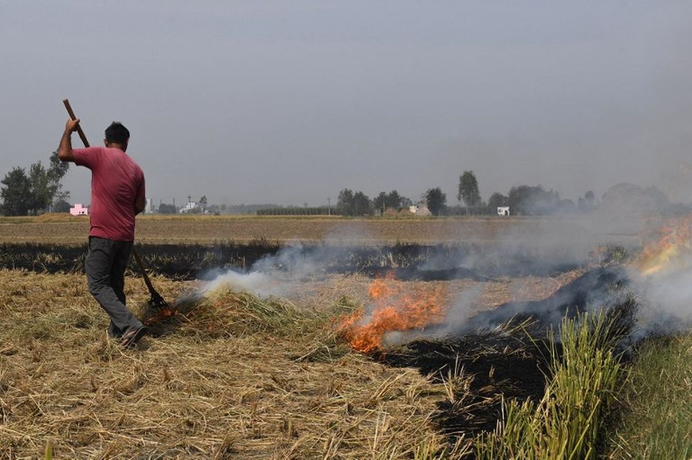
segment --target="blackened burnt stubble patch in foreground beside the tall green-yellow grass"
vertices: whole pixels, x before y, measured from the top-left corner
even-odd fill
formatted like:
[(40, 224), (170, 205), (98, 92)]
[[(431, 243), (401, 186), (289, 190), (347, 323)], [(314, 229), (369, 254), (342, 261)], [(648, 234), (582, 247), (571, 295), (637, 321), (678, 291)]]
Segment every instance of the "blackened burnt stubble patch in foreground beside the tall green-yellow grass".
[(415, 367), (439, 382), (463, 367), (462, 375), (473, 378), (466, 387), (455, 386), (455, 403), (438, 403), (435, 420), (448, 434), (491, 431), (502, 418), (503, 398), (543, 397), (552, 353), (561, 356), (560, 342), (551, 342), (548, 332), (557, 331), (562, 318), (605, 309), (611, 325), (602, 343), (623, 343), (635, 324), (637, 308), (626, 286), (623, 268), (595, 268), (545, 300), (503, 304), (479, 313), (444, 340), (417, 340), (376, 359), (394, 367)]

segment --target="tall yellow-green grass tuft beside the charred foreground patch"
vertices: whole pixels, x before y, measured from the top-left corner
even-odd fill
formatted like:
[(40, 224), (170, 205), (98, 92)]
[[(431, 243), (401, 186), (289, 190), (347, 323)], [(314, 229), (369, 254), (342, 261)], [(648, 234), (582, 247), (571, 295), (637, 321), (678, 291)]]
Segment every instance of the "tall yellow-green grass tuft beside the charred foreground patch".
[(478, 459), (594, 459), (614, 402), (621, 364), (612, 349), (612, 318), (584, 314), (561, 324), (545, 396), (509, 401), (493, 433), (481, 434)]

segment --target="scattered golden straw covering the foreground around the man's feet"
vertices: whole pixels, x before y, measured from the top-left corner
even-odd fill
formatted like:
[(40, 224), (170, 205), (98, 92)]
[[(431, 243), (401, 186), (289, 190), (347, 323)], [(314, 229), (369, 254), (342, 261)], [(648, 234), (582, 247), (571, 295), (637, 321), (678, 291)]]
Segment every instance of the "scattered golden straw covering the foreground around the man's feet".
[[(0, 285), (0, 458), (51, 443), (55, 458), (433, 459), (467, 444), (431, 421), (442, 385), (336, 343), (325, 318), (346, 304), (225, 293), (122, 351), (81, 275), (0, 270)], [(127, 295), (149, 297), (138, 279)]]

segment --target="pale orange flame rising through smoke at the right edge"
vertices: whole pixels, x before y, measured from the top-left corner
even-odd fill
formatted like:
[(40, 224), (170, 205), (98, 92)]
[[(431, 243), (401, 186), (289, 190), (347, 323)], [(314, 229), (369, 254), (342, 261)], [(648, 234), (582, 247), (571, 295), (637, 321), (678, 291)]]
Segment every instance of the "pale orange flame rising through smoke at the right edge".
[(657, 241), (644, 246), (634, 262), (641, 275), (653, 275), (684, 263), (682, 256), (692, 253), (691, 224), (692, 216), (687, 216), (673, 219), (659, 229)]

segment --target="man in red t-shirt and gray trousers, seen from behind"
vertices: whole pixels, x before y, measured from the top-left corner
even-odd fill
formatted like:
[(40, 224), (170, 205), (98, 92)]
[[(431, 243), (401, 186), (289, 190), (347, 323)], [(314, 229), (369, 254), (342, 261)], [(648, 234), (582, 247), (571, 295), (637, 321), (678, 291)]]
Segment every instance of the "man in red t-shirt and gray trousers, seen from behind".
[(106, 128), (105, 147), (73, 149), (71, 134), (80, 120), (68, 120), (58, 157), (91, 169), (89, 292), (108, 313), (108, 335), (134, 347), (147, 329), (125, 306), (125, 267), (134, 241), (134, 217), (145, 208), (144, 173), (125, 151), (129, 131), (118, 122)]

